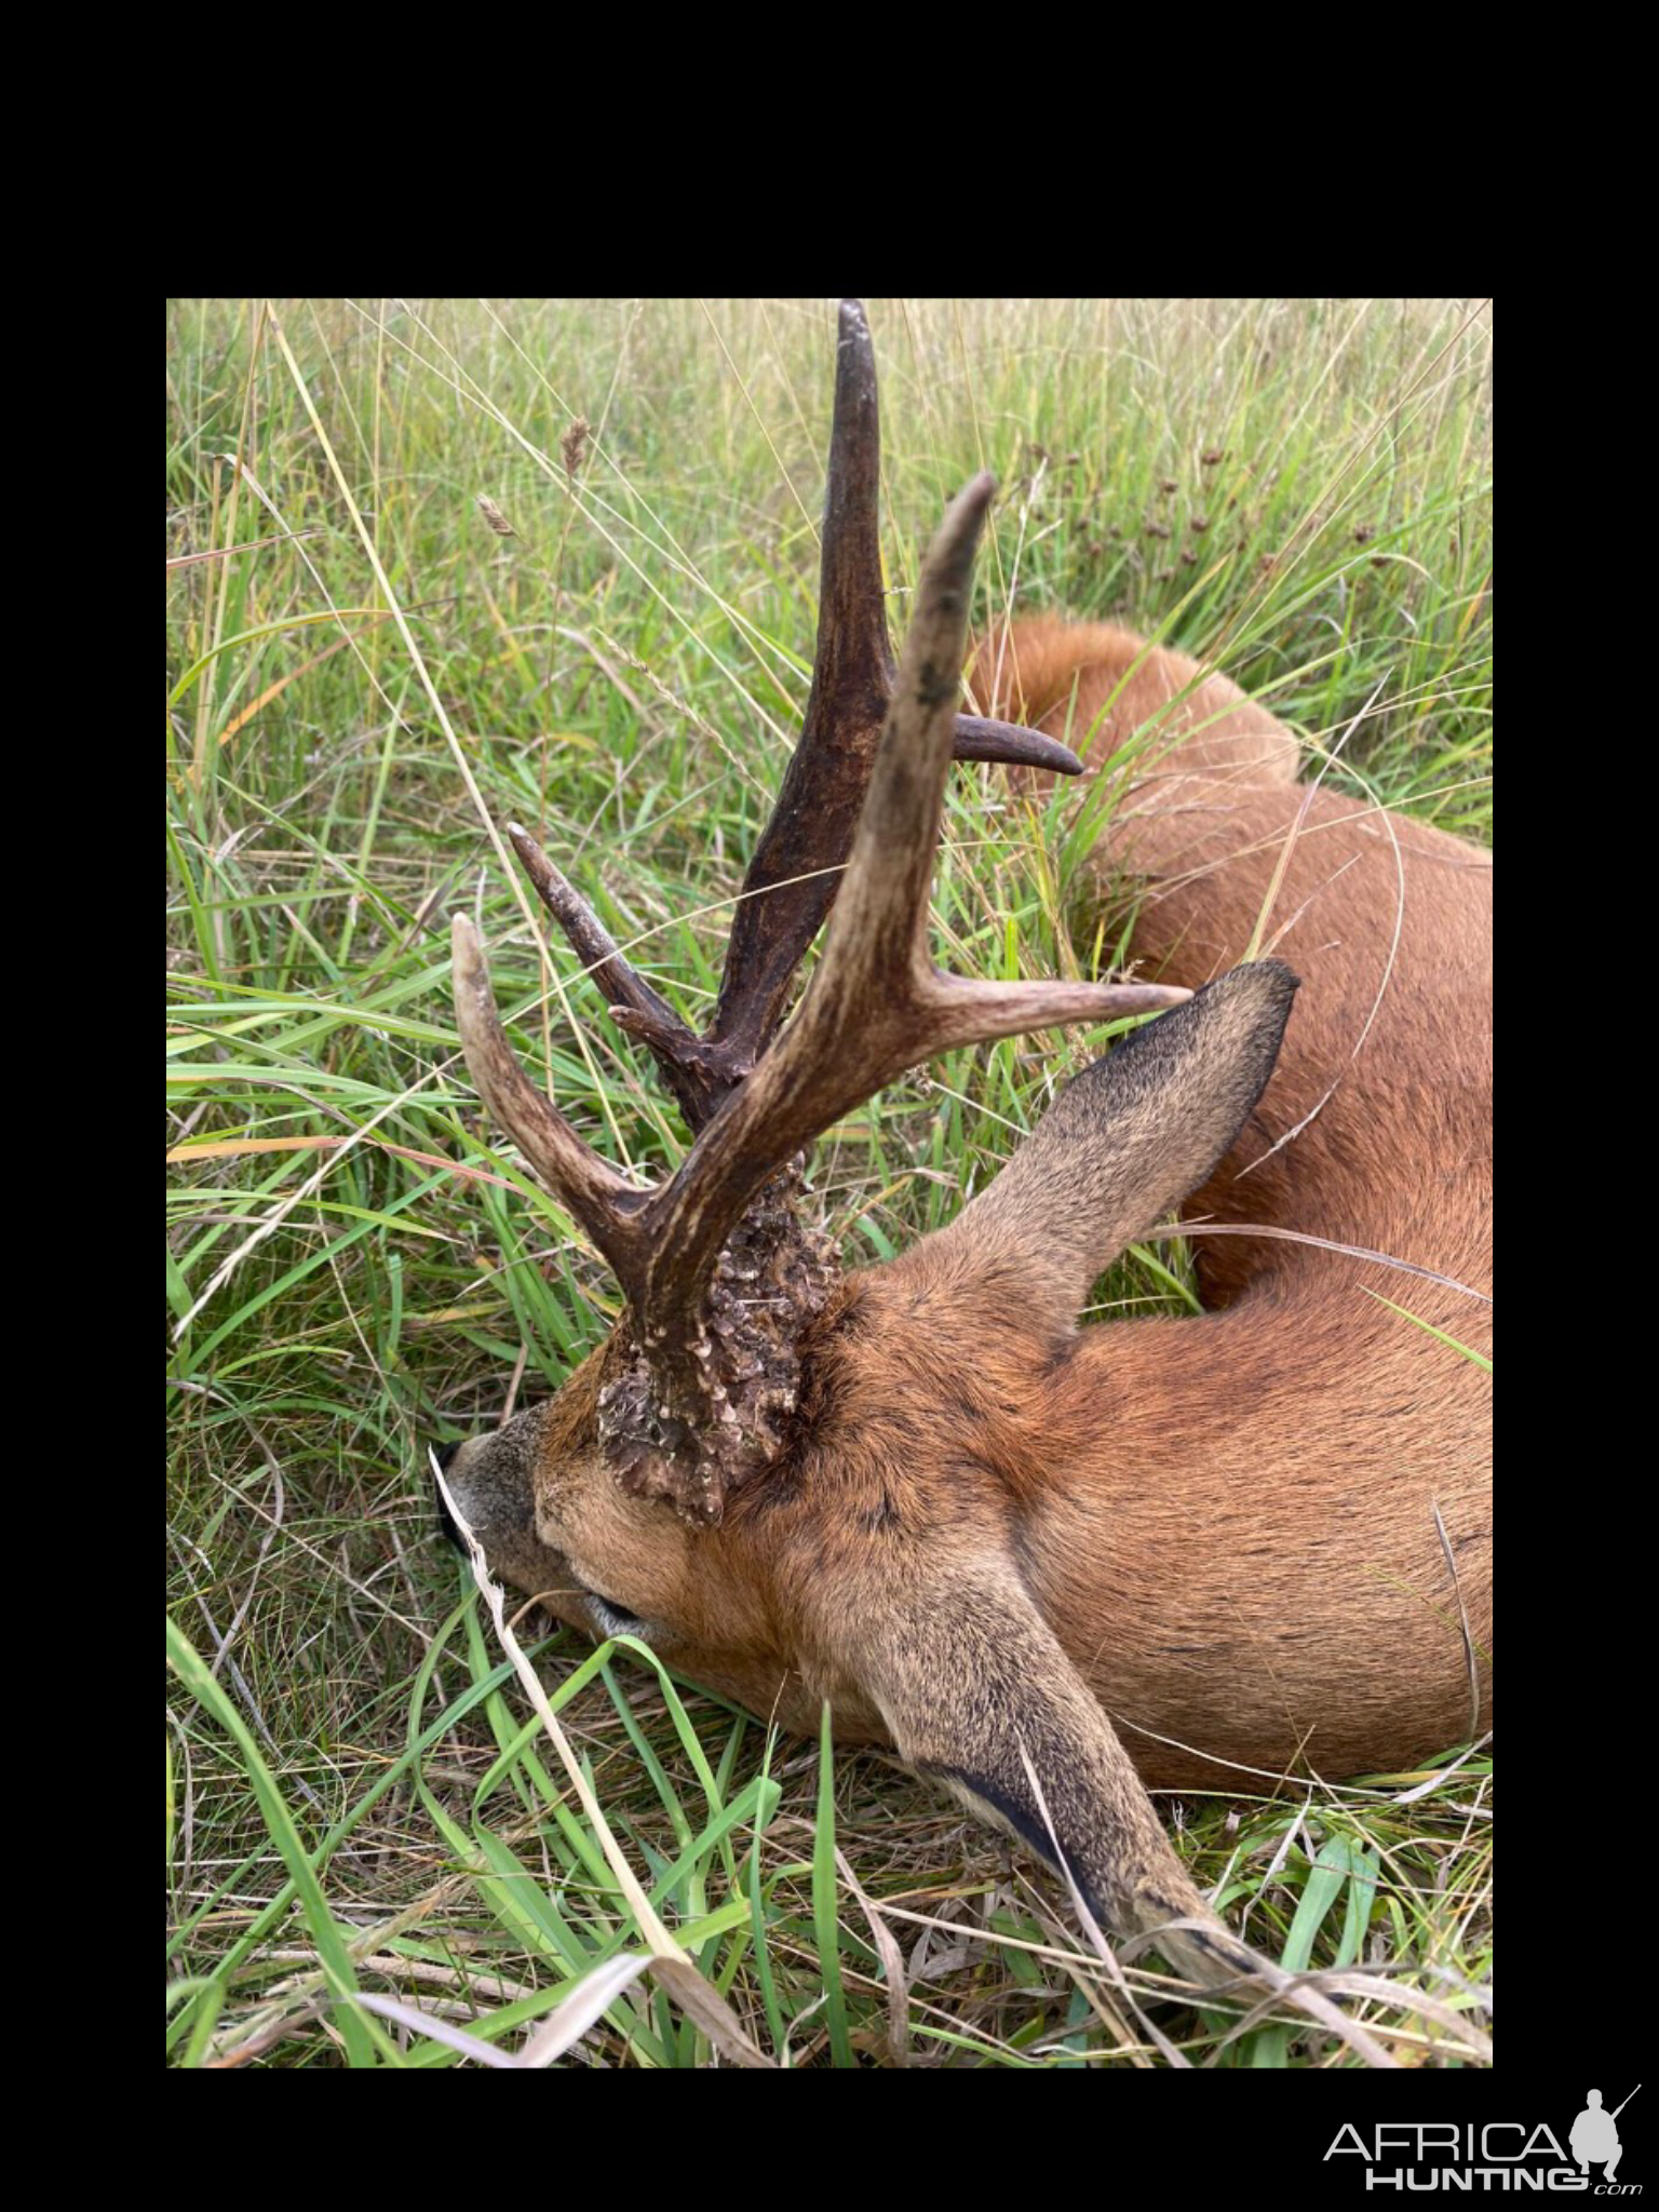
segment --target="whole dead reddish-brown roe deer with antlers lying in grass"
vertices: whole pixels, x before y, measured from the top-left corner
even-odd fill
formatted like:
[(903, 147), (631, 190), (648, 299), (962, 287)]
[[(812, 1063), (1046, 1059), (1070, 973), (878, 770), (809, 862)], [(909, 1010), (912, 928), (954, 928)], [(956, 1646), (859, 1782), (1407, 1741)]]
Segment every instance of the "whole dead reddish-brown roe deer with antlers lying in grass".
[[(1048, 737), (958, 714), (991, 480), (933, 540), (898, 668), (876, 482), (847, 303), (812, 695), (703, 1035), (511, 830), (692, 1128), (670, 1181), (626, 1181), (531, 1086), (456, 918), (480, 1097), (628, 1321), (555, 1398), (453, 1447), (447, 1482), (491, 1568), (560, 1619), (644, 1637), (790, 1728), (827, 1699), (838, 1741), (896, 1745), (1062, 1854), (1102, 1924), (1161, 1931), (1210, 1986), (1283, 1986), (1208, 1909), (1146, 1785), (1338, 1778), (1489, 1725), (1489, 1387), (1433, 1332), (1484, 1343), (1458, 1285), (1491, 1267), (1491, 869), (1296, 785), (1281, 723), (1121, 630), (1035, 622), (980, 650), (982, 703)], [(940, 973), (951, 757), (1075, 772), (1055, 730), (1113, 750), (1148, 721), (1164, 752), (1124, 770), (1093, 867), (1102, 894), (1139, 885), (1135, 953), (1164, 980)], [(1296, 973), (1256, 958), (1263, 933)], [(841, 1276), (799, 1221), (801, 1150), (900, 1071), (1150, 1009), (1175, 1011), (1066, 1084), (900, 1259)], [(1292, 1234), (1203, 1237), (1201, 1316), (1079, 1329), (1102, 1270), (1188, 1199), (1219, 1230)]]

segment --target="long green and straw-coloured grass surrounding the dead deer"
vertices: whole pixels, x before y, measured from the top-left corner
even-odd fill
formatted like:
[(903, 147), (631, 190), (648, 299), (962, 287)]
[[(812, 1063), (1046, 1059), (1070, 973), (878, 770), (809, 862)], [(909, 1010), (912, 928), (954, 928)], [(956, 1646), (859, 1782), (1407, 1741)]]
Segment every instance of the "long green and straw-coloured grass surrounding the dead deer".
[[(984, 611), (1214, 653), (1314, 745), (1363, 717), (1334, 774), (1489, 834), (1489, 307), (872, 323), (894, 628), (989, 465)], [(535, 827), (635, 962), (708, 1004), (805, 701), (832, 327), (801, 301), (168, 305), (175, 2064), (1345, 2064), (1148, 2013), (1161, 1978), (1117, 1982), (1022, 1851), (639, 1648), (522, 1624), (538, 1714), (434, 1540), (427, 1444), (555, 1387), (617, 1310), (478, 1128), (447, 914), (482, 916), (564, 1110), (672, 1161), (672, 1113), (487, 821)], [(1082, 971), (1082, 845), (1075, 801), (960, 772), (949, 962)], [(1088, 1053), (960, 1053), (849, 1115), (814, 1170), (847, 1259), (949, 1219)], [(1183, 1261), (1150, 1254), (1099, 1301), (1170, 1303)], [(1438, 2017), (1369, 2013), (1402, 2057), (1469, 2064), (1489, 1783), (1475, 1752), (1164, 1812), (1259, 1947), (1427, 1993)]]

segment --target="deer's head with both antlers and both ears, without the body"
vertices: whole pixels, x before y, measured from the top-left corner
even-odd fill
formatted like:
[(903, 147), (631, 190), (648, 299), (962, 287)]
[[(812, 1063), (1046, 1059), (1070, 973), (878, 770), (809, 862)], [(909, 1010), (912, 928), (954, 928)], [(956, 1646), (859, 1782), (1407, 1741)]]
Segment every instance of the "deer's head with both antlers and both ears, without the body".
[[(1035, 732), (958, 712), (991, 478), (945, 515), (898, 666), (876, 489), (869, 332), (847, 303), (812, 695), (701, 1035), (511, 827), (690, 1126), (666, 1183), (626, 1181), (533, 1088), (471, 922), (456, 918), (478, 1093), (604, 1254), (628, 1318), (553, 1400), (451, 1451), (447, 1482), (491, 1566), (562, 1619), (639, 1635), (792, 1725), (816, 1728), (830, 1699), (843, 1739), (896, 1743), (1064, 1856), (1104, 1920), (1183, 1918), (1166, 1951), (1208, 1980), (1252, 1971), (1026, 1595), (1020, 1498), (1044, 1462), (1044, 1396), (1093, 1281), (1232, 1144), (1272, 1073), (1294, 978), (1261, 962), (1192, 995), (964, 982), (933, 964), (927, 905), (951, 759), (1079, 763)], [(949, 1228), (838, 1276), (796, 1210), (814, 1137), (953, 1046), (1159, 1009), (1175, 1011), (1068, 1084)]]

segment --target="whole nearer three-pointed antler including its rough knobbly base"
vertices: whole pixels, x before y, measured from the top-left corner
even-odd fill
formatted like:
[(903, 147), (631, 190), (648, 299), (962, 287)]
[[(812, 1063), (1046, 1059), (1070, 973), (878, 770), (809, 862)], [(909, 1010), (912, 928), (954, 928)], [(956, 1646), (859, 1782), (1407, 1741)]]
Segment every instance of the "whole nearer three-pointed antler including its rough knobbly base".
[(772, 1181), (801, 1146), (902, 1068), (958, 1044), (1152, 1013), (1190, 995), (1161, 984), (964, 982), (929, 958), (973, 549), (993, 489), (975, 478), (927, 555), (852, 863), (801, 1009), (666, 1186), (635, 1190), (531, 1086), (502, 1035), (473, 927), (456, 916), (473, 1082), (604, 1252), (633, 1310), (635, 1365), (602, 1396), (606, 1449), (624, 1480), (672, 1495), (692, 1520), (719, 1520), (728, 1489), (776, 1453), (796, 1338), (827, 1294), (825, 1254), (790, 1234)]

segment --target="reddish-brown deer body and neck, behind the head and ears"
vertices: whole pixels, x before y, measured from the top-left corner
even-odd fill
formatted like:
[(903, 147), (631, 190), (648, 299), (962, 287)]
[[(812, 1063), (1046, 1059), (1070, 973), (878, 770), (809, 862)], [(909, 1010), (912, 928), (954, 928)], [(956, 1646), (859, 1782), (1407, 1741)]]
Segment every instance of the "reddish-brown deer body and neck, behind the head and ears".
[[(1093, 856), (1106, 896), (1139, 889), (1148, 971), (1197, 987), (1261, 931), (1301, 975), (1274, 1079), (1186, 1212), (1489, 1292), (1489, 856), (1294, 783), (1290, 732), (1186, 655), (1033, 622), (998, 659), (1000, 708), (1097, 757), (1126, 714), (1157, 732)], [(1292, 1241), (1197, 1239), (1197, 1265), (1203, 1318), (1086, 1329), (1044, 1383), (1044, 1615), (1152, 1785), (1464, 1741), (1491, 1712), (1491, 1387), (1374, 1294), (1478, 1352), (1491, 1307)]]

